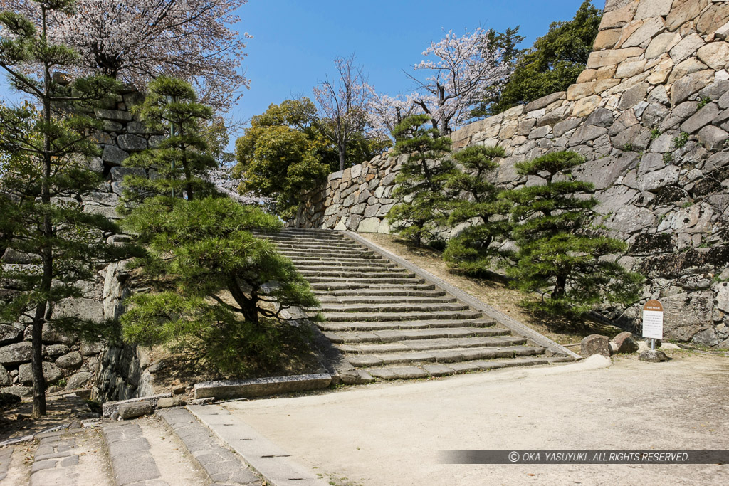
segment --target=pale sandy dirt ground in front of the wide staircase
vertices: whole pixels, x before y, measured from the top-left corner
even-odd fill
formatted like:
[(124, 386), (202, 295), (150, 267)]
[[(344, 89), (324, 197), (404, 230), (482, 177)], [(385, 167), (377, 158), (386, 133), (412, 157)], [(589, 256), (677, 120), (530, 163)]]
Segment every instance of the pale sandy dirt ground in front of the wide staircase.
[(718, 465), (451, 465), (450, 449), (725, 449), (729, 360), (673, 351), (227, 404), (332, 485), (726, 485)]

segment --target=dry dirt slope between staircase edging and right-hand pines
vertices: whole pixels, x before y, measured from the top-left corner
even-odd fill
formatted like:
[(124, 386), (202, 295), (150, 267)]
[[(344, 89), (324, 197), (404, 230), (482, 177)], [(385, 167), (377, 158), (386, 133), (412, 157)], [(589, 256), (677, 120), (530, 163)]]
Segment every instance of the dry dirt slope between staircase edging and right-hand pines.
[[(512, 316), (517, 321), (531, 327), (535, 331), (549, 337), (561, 345), (566, 345), (576, 353), (580, 353), (580, 341), (590, 334), (603, 334), (614, 337), (623, 332), (616, 326), (607, 326), (589, 320), (553, 320), (550, 322), (538, 318), (518, 305), (524, 294), (510, 289), (506, 284), (489, 281), (483, 278), (471, 278), (448, 267), (440, 252), (432, 248), (413, 247), (397, 235), (381, 235), (379, 233), (357, 233), (381, 248), (391, 251), (397, 256), (418, 265), (438, 278), (471, 294), (495, 309)], [(534, 297), (536, 299), (537, 297)]]

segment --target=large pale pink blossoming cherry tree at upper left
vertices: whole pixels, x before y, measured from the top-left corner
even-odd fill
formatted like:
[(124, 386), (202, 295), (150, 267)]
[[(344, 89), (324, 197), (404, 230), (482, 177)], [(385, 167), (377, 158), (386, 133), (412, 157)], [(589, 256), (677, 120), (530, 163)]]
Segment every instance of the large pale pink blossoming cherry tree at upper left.
[[(80, 55), (79, 71), (101, 71), (144, 87), (160, 74), (195, 84), (200, 99), (217, 109), (231, 106), (249, 86), (241, 71), (249, 34), (231, 26), (247, 0), (78, 0), (70, 15), (54, 12), (49, 39)], [(0, 10), (39, 25), (41, 4), (0, 0)], [(237, 93), (237, 94), (236, 94)]]

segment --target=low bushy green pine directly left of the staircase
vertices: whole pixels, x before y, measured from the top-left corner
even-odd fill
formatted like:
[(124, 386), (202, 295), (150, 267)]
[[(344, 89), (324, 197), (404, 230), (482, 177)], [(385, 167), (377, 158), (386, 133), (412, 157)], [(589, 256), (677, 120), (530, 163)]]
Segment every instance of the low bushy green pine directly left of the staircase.
[(318, 305), (292, 262), (252, 235), (281, 227), (258, 208), (227, 197), (158, 196), (124, 224), (149, 247), (143, 270), (155, 290), (130, 298), (122, 315), (129, 342), (168, 345), (240, 375), (246, 358), (279, 357), (284, 310)]

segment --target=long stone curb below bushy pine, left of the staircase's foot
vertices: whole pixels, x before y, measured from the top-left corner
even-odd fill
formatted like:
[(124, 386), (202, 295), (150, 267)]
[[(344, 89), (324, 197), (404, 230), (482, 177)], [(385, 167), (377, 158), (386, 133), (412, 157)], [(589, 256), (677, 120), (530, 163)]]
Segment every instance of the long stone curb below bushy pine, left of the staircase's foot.
[(332, 383), (332, 375), (293, 375), (252, 380), (215, 380), (197, 383), (193, 388), (195, 399), (235, 399), (241, 396), (268, 396), (292, 391), (309, 391), (327, 388)]

